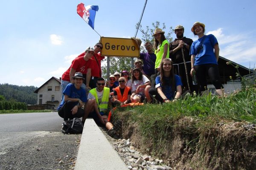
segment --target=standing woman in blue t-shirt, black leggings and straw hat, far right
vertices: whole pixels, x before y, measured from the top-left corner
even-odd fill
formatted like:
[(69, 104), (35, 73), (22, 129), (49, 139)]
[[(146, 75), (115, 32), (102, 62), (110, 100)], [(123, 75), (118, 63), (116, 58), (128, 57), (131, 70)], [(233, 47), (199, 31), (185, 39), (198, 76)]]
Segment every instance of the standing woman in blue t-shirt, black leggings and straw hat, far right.
[(219, 96), (223, 96), (224, 88), (220, 81), (218, 69), (219, 46), (214, 35), (204, 35), (205, 25), (195, 22), (191, 31), (198, 36), (198, 40), (194, 41), (190, 48), (191, 55), (191, 71), (192, 76), (195, 71), (198, 83), (200, 85), (201, 94), (208, 94), (206, 74), (212, 84), (216, 88)]

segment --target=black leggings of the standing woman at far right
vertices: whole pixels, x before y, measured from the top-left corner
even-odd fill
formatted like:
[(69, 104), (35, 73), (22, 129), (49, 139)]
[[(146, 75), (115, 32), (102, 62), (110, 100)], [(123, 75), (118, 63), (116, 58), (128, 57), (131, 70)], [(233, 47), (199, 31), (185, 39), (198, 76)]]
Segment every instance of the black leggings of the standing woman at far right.
[(218, 65), (216, 64), (203, 64), (203, 65), (195, 65), (196, 77), (198, 79), (198, 83), (200, 85), (200, 91), (207, 90), (207, 73), (215, 88), (221, 89), (224, 88), (221, 84), (220, 74), (218, 70)]

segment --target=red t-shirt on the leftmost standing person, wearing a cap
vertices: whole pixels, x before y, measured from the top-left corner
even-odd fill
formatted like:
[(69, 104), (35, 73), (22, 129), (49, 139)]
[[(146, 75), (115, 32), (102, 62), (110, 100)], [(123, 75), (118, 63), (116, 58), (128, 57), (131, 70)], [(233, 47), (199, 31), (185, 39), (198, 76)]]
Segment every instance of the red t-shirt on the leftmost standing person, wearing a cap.
[(89, 59), (88, 61), (85, 61), (84, 60), (84, 53), (83, 53), (83, 55), (80, 54), (78, 57), (76, 57), (72, 61), (71, 65), (70, 65), (70, 68), (68, 68), (67, 71), (65, 71), (65, 73), (62, 74), (61, 79), (64, 80), (64, 81), (70, 82), (69, 74), (70, 74), (71, 68), (75, 69), (76, 72), (81, 72), (82, 74), (86, 74), (87, 69), (90, 68), (91, 65), (92, 65), (91, 59)]

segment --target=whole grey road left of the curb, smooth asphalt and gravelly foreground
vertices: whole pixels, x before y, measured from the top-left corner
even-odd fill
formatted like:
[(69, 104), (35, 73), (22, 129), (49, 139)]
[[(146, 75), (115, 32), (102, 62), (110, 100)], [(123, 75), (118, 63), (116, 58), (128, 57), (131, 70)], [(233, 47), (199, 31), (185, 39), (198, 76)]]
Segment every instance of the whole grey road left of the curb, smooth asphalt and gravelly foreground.
[(0, 114), (0, 170), (73, 169), (81, 135), (61, 133), (62, 122), (56, 112)]

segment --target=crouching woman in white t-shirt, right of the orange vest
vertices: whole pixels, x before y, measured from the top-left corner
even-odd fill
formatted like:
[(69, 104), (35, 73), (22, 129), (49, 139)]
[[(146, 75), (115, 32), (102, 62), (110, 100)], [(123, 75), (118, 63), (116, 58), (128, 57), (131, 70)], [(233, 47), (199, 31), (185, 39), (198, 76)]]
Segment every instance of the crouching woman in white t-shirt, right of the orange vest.
[(142, 74), (139, 68), (134, 68), (132, 71), (132, 94), (131, 102), (143, 102), (146, 97), (147, 101), (151, 101), (149, 96), (149, 89), (151, 87), (151, 82), (149, 79)]

